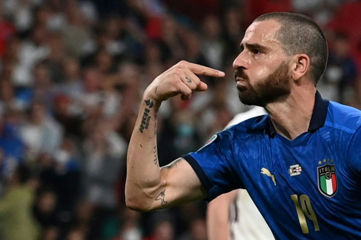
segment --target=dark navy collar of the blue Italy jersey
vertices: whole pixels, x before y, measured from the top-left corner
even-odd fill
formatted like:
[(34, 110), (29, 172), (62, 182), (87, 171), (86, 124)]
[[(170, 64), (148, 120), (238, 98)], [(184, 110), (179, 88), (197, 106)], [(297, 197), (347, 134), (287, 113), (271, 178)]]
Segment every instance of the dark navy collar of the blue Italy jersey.
[[(308, 129), (309, 132), (314, 132), (317, 129), (323, 127), (326, 121), (328, 107), (329, 107), (329, 101), (322, 99), (322, 96), (317, 91), (311, 120), (309, 121), (309, 129)], [(274, 137), (276, 134), (276, 129), (269, 117), (268, 117), (268, 125), (269, 125), (269, 135), (270, 137)]]

